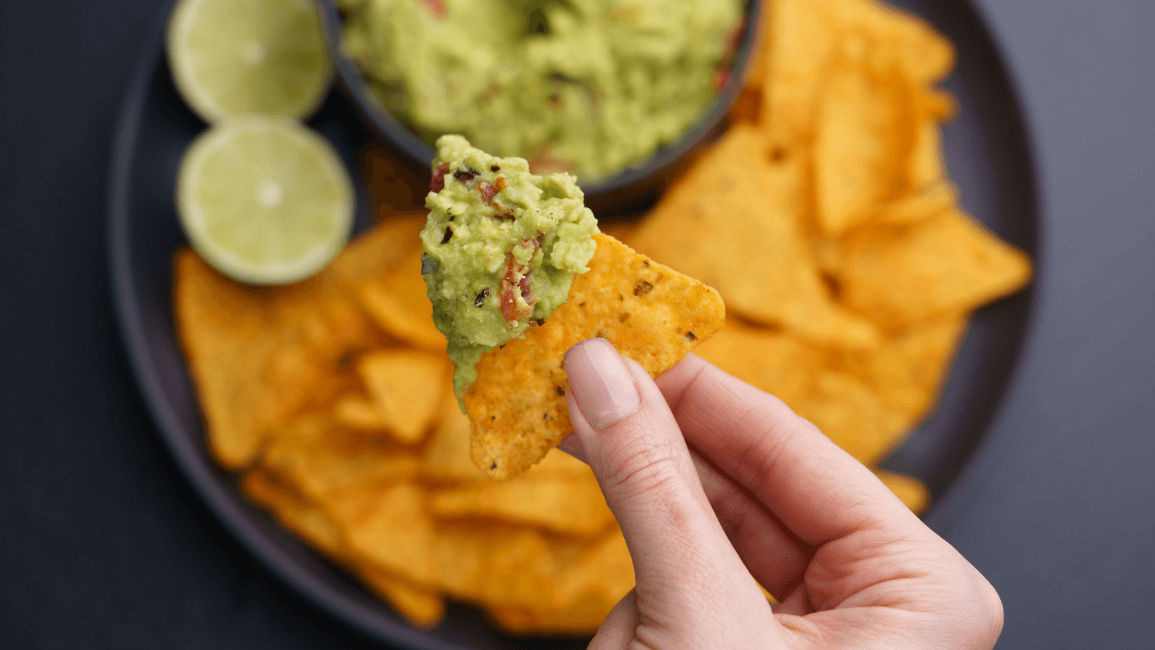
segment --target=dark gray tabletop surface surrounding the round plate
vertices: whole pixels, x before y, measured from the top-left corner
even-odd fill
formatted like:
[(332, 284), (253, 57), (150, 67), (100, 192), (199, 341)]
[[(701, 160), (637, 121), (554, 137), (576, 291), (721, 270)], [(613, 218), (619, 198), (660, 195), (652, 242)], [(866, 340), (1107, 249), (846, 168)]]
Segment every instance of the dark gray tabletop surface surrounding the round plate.
[[(978, 0), (1040, 160), (1040, 306), (931, 524), (1000, 649), (1155, 645), (1155, 2)], [(375, 648), (260, 569), (137, 396), (105, 266), (117, 109), (156, 2), (0, 3), (0, 648)]]

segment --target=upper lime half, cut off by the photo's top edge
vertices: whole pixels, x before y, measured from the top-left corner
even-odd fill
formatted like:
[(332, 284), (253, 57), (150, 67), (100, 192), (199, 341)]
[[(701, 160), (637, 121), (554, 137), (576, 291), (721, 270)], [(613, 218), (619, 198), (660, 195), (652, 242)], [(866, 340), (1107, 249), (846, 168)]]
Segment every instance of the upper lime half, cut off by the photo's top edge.
[(210, 124), (247, 113), (304, 118), (333, 76), (312, 0), (180, 0), (167, 50), (177, 89)]

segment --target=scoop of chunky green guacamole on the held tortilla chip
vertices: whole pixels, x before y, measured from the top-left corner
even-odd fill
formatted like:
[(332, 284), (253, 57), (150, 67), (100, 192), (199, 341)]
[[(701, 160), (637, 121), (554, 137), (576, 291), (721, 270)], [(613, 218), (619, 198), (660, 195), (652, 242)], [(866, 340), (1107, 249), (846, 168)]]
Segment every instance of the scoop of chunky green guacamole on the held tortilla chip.
[(437, 148), (422, 275), (460, 399), (482, 354), (566, 301), (574, 274), (589, 270), (597, 219), (569, 174), (535, 175), (523, 158), (490, 156), (460, 135)]

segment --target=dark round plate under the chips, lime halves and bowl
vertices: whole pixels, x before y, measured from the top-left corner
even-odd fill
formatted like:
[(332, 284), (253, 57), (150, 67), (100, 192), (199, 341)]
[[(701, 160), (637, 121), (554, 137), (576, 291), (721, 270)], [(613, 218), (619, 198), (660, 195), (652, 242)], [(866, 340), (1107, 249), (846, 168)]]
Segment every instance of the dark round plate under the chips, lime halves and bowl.
[[(944, 128), (951, 177), (962, 204), (1000, 237), (1036, 253), (1038, 221), (1030, 149), (1011, 80), (974, 8), (959, 0), (900, 0), (949, 36), (959, 65), (945, 83), (959, 118)], [(452, 605), (432, 632), (410, 629), (386, 605), (325, 561), (240, 493), (214, 464), (177, 343), (172, 256), (185, 242), (173, 207), (177, 166), (204, 125), (185, 107), (164, 61), (162, 9), (141, 47), (113, 147), (109, 188), (109, 264), (120, 328), (157, 428), (188, 480), (221, 521), (273, 573), (333, 615), (394, 645), (420, 649), (583, 648), (582, 640), (511, 638), (475, 610)], [(340, 94), (311, 120), (357, 175), (355, 152), (368, 134)], [(364, 196), (358, 227), (368, 224)], [(955, 358), (938, 409), (886, 466), (925, 480), (939, 496), (982, 440), (1013, 376), (1031, 313), (1030, 290), (977, 314)], [(938, 516), (945, 513), (932, 510)]]

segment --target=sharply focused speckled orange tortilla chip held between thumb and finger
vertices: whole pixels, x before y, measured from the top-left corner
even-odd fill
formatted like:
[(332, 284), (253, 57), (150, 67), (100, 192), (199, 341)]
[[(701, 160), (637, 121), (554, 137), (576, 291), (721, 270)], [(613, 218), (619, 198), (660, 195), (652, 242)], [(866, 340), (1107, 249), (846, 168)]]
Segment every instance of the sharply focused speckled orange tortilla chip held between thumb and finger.
[(487, 352), (463, 402), (470, 453), (490, 478), (508, 480), (573, 433), (562, 358), (580, 341), (604, 337), (656, 376), (714, 335), (725, 319), (717, 292), (595, 234), (590, 270), (569, 299), (522, 339)]

